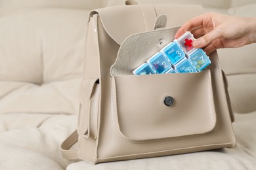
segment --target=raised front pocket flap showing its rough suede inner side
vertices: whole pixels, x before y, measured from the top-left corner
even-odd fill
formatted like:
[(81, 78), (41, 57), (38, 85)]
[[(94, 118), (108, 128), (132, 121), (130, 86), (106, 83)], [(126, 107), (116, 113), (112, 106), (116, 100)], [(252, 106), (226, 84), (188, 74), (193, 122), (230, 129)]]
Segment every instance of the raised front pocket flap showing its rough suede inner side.
[(133, 70), (147, 61), (148, 56), (160, 52), (161, 48), (173, 41), (178, 29), (179, 27), (160, 29), (127, 37), (121, 44), (116, 62), (110, 68), (110, 75), (133, 75)]

